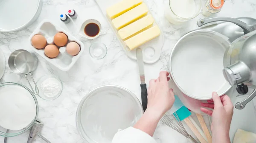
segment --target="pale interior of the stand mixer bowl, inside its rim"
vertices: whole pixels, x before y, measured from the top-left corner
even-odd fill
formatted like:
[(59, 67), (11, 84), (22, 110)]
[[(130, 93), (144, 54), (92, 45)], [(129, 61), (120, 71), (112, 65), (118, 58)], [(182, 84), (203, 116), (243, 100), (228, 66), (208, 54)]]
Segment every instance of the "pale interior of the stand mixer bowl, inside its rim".
[[(226, 90), (222, 74), (225, 48), (205, 36), (184, 40), (172, 58), (172, 71), (177, 84), (197, 98), (211, 98), (213, 91)], [(228, 87), (228, 86), (227, 86)]]

